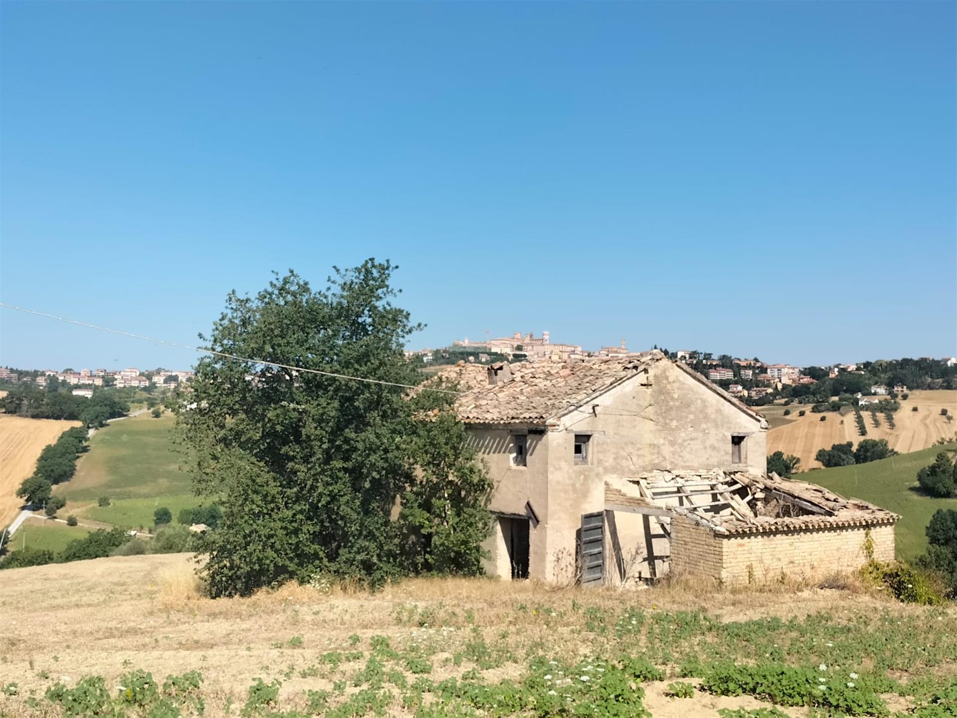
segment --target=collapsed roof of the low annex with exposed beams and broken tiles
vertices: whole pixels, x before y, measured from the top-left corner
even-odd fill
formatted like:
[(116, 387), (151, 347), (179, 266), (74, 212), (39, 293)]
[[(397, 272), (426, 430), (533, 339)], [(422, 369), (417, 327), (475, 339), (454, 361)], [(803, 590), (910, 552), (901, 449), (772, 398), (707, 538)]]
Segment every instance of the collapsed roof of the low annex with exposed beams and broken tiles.
[(663, 519), (686, 516), (720, 535), (885, 526), (900, 518), (812, 483), (720, 469), (606, 479), (605, 504)]

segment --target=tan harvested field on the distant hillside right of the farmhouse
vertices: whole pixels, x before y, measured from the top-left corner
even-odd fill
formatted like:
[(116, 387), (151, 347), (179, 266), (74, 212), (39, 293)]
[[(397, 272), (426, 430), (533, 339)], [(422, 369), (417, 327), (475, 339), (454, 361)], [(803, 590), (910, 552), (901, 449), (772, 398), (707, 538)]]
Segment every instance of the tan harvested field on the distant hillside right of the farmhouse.
[[(915, 406), (918, 411), (911, 411)], [(887, 426), (881, 414), (878, 415), (880, 426), (875, 427), (865, 407), (861, 414), (867, 426), (866, 437), (857, 434), (853, 412), (844, 416), (836, 412), (813, 414), (811, 406), (803, 404), (791, 404), (788, 408), (791, 415), (786, 417), (786, 423), (768, 431), (768, 454), (775, 451), (792, 454), (800, 458), (803, 471), (820, 468), (814, 455), (818, 449), (830, 449), (832, 444), (853, 441), (857, 445), (862, 438), (886, 438), (892, 449), (908, 454), (933, 446), (939, 438), (952, 438), (957, 431), (957, 421), (947, 421), (946, 416), (941, 415), (941, 409), (946, 409), (948, 414), (957, 413), (957, 391), (953, 390), (909, 393), (908, 398), (901, 401), (901, 410), (894, 415), (894, 429)], [(798, 416), (801, 409), (807, 414)], [(821, 416), (827, 419), (821, 421)]]

